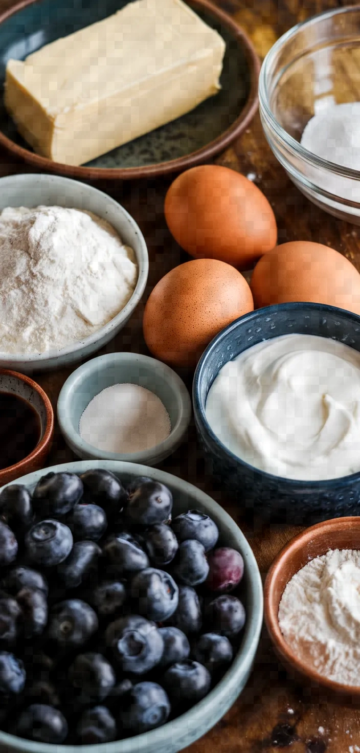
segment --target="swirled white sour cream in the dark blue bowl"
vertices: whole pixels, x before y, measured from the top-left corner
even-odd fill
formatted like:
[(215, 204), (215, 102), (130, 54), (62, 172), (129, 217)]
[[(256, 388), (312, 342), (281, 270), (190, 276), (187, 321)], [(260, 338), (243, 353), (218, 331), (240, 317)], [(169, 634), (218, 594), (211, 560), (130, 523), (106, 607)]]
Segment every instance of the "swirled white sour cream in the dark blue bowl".
[(360, 353), (307, 334), (258, 343), (221, 368), (206, 418), (228, 450), (267, 473), (360, 471)]

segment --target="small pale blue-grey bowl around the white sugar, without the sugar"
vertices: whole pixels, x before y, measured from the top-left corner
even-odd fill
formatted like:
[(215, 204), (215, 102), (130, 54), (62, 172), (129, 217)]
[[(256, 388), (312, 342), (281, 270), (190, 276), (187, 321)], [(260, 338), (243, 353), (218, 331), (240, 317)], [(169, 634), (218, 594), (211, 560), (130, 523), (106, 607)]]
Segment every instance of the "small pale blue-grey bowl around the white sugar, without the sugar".
[[(90, 401), (114, 384), (136, 384), (150, 390), (169, 413), (171, 431), (160, 444), (136, 453), (99, 450), (82, 439), (79, 424)], [(124, 460), (157, 465), (176, 450), (188, 431), (191, 399), (183, 381), (169, 366), (138, 353), (109, 353), (87, 361), (63, 386), (57, 402), (57, 418), (66, 444), (84, 460)]]

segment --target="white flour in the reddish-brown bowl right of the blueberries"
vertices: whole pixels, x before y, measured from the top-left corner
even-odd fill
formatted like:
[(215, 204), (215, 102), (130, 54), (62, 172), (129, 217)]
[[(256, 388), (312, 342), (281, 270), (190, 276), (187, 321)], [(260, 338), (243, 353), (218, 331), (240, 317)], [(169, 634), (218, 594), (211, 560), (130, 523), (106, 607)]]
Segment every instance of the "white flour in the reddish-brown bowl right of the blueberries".
[(329, 550), (299, 570), (282, 594), (279, 627), (321, 675), (360, 685), (360, 551)]

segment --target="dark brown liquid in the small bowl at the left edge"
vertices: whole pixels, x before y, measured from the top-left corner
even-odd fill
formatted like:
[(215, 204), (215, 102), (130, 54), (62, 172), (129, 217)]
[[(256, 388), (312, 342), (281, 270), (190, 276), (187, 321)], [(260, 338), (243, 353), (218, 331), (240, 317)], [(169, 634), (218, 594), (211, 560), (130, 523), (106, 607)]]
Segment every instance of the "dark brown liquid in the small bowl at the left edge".
[(41, 435), (40, 417), (28, 401), (0, 392), (0, 470), (35, 450)]

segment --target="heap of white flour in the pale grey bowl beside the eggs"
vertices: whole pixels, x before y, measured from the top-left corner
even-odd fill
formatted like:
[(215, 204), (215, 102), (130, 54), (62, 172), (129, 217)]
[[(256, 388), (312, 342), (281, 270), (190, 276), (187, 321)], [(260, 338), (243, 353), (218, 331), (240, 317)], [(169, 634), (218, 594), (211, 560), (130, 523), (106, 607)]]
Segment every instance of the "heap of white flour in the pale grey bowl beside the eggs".
[(47, 352), (88, 337), (124, 308), (136, 259), (96, 215), (60, 206), (0, 214), (0, 351)]

